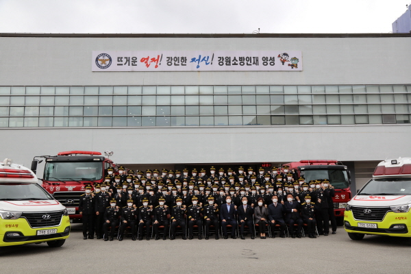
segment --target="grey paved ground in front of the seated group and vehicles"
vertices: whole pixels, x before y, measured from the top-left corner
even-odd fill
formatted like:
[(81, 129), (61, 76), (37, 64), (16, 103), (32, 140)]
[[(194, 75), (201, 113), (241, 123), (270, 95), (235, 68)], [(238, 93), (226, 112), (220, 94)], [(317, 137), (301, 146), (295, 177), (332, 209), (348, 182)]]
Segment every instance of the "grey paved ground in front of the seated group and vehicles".
[(0, 249), (0, 273), (411, 273), (411, 243), (338, 227), (320, 238), (261, 240), (83, 240), (73, 225), (63, 247), (45, 243)]

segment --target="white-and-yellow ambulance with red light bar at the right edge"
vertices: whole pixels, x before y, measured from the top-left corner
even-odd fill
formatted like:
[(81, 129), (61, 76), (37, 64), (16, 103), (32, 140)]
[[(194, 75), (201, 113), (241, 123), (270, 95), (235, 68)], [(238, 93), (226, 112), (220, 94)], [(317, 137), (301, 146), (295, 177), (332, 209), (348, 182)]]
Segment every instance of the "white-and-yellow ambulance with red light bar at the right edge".
[(411, 158), (384, 160), (373, 178), (349, 201), (345, 231), (353, 240), (366, 234), (411, 237)]

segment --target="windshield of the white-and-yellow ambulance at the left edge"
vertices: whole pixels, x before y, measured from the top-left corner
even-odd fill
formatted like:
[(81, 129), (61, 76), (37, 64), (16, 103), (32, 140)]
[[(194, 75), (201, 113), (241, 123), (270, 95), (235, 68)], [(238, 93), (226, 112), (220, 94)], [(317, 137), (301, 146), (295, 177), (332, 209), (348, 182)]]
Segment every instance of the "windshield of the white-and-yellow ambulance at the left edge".
[(53, 200), (38, 184), (0, 183), (0, 201)]

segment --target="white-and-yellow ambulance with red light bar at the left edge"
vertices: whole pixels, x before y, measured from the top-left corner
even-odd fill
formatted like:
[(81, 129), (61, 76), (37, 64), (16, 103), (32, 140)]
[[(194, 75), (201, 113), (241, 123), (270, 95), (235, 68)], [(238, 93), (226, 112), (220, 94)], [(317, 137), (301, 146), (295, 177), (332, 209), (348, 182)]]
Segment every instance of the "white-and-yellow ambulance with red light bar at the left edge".
[(0, 247), (40, 242), (61, 247), (69, 234), (66, 208), (36, 175), (10, 159), (0, 162)]

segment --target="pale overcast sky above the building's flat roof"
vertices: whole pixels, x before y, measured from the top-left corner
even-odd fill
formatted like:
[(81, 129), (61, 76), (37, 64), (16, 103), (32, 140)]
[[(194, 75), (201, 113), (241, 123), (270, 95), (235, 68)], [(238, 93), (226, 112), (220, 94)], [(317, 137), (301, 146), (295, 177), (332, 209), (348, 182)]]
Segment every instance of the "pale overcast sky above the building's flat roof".
[(411, 0), (0, 0), (0, 32), (388, 33)]

